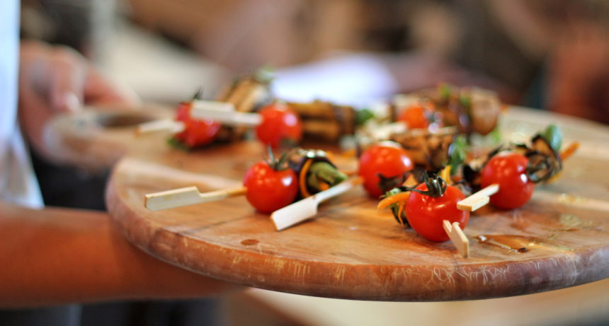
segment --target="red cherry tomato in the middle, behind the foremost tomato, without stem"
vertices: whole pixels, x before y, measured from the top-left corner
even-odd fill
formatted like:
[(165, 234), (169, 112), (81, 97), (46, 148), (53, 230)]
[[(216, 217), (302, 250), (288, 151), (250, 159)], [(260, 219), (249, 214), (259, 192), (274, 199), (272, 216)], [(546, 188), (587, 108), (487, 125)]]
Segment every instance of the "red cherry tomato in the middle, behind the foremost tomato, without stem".
[(370, 146), (360, 156), (359, 165), (358, 173), (364, 178), (364, 188), (372, 198), (378, 198), (389, 190), (379, 187), (379, 173), (383, 177), (401, 178), (413, 168), (412, 161), (402, 146), (391, 141)]

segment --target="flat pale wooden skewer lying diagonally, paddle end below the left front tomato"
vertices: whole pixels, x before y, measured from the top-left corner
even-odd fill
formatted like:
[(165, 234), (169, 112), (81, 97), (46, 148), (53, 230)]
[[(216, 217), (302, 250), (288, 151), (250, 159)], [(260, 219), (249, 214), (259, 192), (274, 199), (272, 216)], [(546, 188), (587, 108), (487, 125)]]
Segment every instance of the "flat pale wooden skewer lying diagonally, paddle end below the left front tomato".
[(319, 206), (319, 203), (324, 202), (326, 199), (336, 197), (343, 192), (347, 192), (355, 186), (360, 185), (362, 182), (362, 177), (353, 177), (328, 190), (317, 192), (317, 194), (301, 199), (298, 202), (285, 206), (277, 211), (273, 211), (271, 220), (273, 221), (273, 224), (275, 224), (275, 229), (281, 231), (317, 215), (317, 206)]

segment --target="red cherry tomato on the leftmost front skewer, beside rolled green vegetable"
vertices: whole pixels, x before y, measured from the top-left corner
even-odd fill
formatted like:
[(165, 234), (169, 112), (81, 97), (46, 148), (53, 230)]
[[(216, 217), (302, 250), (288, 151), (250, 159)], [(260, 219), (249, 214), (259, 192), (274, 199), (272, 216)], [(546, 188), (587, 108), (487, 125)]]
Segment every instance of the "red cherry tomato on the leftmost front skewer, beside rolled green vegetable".
[(243, 184), (247, 188), (247, 201), (262, 213), (288, 206), (298, 194), (294, 170), (273, 170), (266, 162), (258, 162), (249, 168)]

